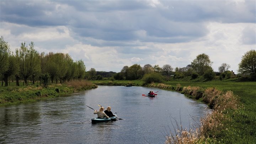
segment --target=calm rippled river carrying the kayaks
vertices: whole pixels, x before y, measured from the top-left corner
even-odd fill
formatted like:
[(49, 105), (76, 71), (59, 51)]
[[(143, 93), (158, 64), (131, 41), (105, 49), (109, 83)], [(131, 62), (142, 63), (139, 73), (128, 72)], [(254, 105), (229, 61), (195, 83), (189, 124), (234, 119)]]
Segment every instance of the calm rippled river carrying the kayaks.
[[(156, 97), (145, 97), (150, 90)], [(97, 104), (121, 119), (92, 124)], [(86, 106), (87, 105), (87, 106)], [(45, 101), (0, 107), (0, 143), (17, 144), (163, 144), (171, 122), (191, 127), (209, 112), (207, 105), (183, 94), (148, 87), (98, 86)], [(181, 120), (181, 122), (180, 122)]]

